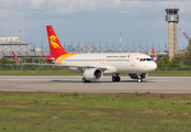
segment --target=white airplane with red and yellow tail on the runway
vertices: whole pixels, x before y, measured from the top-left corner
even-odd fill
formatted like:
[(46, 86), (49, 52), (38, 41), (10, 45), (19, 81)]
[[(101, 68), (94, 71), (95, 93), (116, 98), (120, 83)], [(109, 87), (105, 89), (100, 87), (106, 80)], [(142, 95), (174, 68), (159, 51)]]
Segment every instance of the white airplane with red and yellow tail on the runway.
[(142, 82), (148, 73), (157, 68), (153, 58), (142, 53), (67, 53), (52, 25), (46, 25), (50, 55), (45, 59), (50, 64), (34, 64), (60, 66), (67, 70), (82, 73), (82, 82), (98, 80), (103, 75), (112, 75), (112, 81), (121, 81), (120, 74), (128, 74), (132, 79)]

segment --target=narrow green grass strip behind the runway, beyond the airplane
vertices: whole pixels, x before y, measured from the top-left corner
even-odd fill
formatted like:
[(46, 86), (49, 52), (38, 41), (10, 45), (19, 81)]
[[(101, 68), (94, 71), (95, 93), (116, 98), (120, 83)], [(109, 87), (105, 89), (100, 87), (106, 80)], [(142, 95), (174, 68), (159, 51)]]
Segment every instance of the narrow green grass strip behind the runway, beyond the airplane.
[[(0, 76), (81, 76), (68, 70), (0, 70)], [(111, 75), (109, 75), (111, 76)], [(128, 76), (122, 74), (121, 76)], [(148, 76), (191, 76), (191, 70), (155, 70)]]

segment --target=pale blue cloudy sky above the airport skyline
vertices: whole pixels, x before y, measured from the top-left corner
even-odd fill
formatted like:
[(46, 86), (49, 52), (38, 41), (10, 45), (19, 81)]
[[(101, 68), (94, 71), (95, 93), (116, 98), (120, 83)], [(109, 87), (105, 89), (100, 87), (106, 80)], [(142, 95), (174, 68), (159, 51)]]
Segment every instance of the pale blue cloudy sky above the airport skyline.
[[(165, 9), (180, 9), (178, 29), (191, 36), (191, 0), (1, 0), (0, 37), (18, 36), (37, 46), (47, 44), (46, 25), (53, 25), (61, 43), (80, 42), (102, 45), (146, 43), (157, 46), (168, 42)], [(187, 40), (178, 31), (179, 45)]]

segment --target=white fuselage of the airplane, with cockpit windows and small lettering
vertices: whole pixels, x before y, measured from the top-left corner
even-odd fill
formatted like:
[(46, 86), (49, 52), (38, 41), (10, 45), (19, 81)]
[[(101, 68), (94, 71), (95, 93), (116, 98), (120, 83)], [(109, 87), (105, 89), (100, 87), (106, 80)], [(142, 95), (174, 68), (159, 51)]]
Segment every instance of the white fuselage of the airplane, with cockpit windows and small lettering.
[(60, 65), (77, 66), (67, 68), (72, 72), (81, 72), (78, 66), (105, 67), (103, 74), (142, 74), (154, 72), (157, 68), (156, 63), (142, 53), (76, 54), (66, 57)]

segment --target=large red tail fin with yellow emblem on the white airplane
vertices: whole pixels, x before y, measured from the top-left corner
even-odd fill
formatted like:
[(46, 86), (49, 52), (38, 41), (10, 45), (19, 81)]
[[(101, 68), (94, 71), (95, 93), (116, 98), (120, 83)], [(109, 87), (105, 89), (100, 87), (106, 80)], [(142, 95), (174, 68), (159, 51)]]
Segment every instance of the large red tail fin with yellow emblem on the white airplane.
[(61, 46), (55, 31), (52, 25), (46, 25), (47, 36), (49, 42), (50, 55), (63, 55), (68, 54)]

